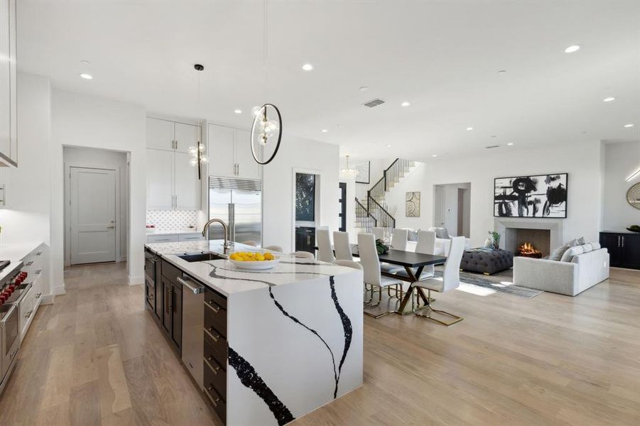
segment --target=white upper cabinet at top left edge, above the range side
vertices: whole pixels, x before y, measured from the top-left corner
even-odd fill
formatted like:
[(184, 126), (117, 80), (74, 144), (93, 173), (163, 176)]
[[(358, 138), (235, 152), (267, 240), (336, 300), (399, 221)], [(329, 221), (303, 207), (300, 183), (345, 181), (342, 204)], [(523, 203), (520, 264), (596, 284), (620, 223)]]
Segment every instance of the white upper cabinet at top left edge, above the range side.
[(0, 166), (18, 165), (16, 0), (0, 0)]

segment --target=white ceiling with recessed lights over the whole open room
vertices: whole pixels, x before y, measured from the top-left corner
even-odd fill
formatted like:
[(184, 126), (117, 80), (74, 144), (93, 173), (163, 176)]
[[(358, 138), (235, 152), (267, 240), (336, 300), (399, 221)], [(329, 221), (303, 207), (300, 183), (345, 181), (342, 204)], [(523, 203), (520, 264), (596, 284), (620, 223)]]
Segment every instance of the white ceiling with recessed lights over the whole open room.
[(285, 133), (370, 158), (640, 138), (636, 0), (271, 1), (266, 86), (260, 1), (18, 4), (20, 70), (158, 114), (248, 127), (269, 101)]

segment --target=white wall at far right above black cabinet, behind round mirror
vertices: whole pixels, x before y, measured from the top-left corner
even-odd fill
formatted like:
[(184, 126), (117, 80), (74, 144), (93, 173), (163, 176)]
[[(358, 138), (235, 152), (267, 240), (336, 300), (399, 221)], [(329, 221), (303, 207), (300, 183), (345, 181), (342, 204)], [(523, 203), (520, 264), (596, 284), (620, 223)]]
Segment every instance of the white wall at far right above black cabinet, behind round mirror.
[(640, 182), (627, 178), (640, 168), (640, 141), (604, 143), (604, 185), (602, 194), (602, 230), (626, 231), (640, 225), (640, 210), (627, 202), (627, 191)]

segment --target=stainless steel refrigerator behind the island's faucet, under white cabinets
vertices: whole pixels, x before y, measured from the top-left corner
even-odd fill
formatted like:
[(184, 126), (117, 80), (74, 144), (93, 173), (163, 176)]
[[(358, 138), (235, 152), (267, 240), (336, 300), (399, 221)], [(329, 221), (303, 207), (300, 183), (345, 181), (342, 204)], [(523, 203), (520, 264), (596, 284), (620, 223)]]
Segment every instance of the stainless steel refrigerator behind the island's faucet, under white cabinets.
[[(262, 245), (262, 181), (209, 178), (209, 219), (229, 224), (229, 240), (256, 241)], [(209, 239), (222, 239), (222, 226), (209, 227)]]

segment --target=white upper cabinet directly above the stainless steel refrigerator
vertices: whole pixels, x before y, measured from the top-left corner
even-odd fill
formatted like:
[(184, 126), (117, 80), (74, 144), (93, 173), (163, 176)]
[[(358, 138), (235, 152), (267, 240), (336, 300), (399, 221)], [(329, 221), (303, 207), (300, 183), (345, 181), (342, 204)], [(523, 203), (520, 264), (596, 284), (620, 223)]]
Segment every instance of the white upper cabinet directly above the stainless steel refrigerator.
[(209, 174), (260, 179), (260, 165), (251, 155), (249, 131), (209, 124)]

